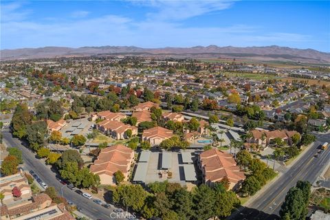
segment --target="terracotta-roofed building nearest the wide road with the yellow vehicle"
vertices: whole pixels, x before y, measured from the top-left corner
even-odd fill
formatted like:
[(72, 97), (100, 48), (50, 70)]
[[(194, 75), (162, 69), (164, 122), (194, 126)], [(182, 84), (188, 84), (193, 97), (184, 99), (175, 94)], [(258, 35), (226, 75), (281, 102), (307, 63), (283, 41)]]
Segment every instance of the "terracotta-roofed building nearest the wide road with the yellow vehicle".
[(275, 138), (280, 138), (287, 145), (292, 145), (292, 136), (298, 133), (297, 131), (275, 130), (275, 131), (250, 131), (252, 137), (248, 137), (246, 142), (248, 144), (257, 144), (262, 147), (267, 147)]

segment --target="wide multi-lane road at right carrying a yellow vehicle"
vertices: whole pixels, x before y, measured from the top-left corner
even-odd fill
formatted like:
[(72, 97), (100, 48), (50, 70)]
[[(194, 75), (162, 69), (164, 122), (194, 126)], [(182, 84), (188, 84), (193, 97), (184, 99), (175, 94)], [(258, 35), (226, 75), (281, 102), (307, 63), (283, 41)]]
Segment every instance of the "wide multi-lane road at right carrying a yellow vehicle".
[(330, 162), (330, 148), (322, 151), (318, 157), (314, 157), (319, 151), (318, 146), (329, 142), (330, 134), (316, 135), (316, 137), (316, 142), (307, 148), (305, 150), (307, 152), (281, 177), (276, 179), (272, 186), (256, 197), (248, 207), (242, 208), (240, 212), (236, 212), (228, 219), (279, 219), (278, 213), (289, 189), (296, 186), (298, 180), (307, 180), (313, 184)]

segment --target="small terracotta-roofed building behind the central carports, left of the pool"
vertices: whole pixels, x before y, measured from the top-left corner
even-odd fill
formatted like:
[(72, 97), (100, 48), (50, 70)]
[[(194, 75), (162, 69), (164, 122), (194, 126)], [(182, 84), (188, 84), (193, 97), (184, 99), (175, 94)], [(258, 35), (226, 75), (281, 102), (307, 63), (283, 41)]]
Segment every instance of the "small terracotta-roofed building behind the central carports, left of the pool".
[(155, 126), (152, 129), (144, 130), (142, 140), (148, 141), (151, 146), (159, 145), (163, 140), (173, 137), (173, 131)]

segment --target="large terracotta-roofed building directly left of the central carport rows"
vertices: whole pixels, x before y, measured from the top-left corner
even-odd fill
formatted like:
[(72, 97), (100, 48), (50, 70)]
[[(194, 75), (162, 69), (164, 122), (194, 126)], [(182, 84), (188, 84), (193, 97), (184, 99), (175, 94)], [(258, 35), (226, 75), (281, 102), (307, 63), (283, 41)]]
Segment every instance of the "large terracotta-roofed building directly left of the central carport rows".
[(89, 170), (100, 177), (102, 185), (113, 185), (115, 184), (113, 174), (118, 170), (124, 175), (125, 181), (128, 179), (133, 162), (134, 151), (122, 144), (115, 144), (102, 149)]

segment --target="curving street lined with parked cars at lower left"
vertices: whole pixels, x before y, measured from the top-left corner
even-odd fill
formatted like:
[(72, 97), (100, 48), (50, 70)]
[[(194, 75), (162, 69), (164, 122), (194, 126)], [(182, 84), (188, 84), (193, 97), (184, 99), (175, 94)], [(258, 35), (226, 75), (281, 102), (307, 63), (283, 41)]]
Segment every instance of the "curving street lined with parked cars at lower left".
[(70, 190), (67, 186), (61, 184), (56, 180), (56, 174), (48, 166), (45, 166), (42, 160), (36, 159), (34, 153), (28, 148), (25, 148), (20, 140), (12, 137), (12, 134), (8, 130), (3, 129), (1, 132), (3, 134), (3, 141), (8, 144), (8, 146), (19, 148), (22, 151), (24, 167), (26, 169), (34, 170), (34, 173), (39, 175), (48, 186), (54, 186), (59, 195), (61, 195), (62, 189), (65, 199), (72, 201), (78, 207), (82, 208), (83, 214), (87, 215), (87, 217), (91, 219), (122, 219), (111, 218), (114, 216), (111, 214), (113, 210), (104, 208), (94, 203), (93, 199), (86, 199), (78, 195), (74, 190)]

